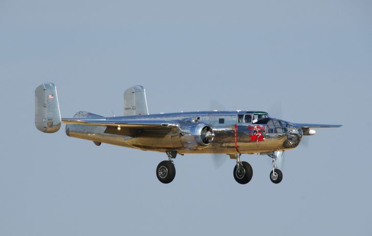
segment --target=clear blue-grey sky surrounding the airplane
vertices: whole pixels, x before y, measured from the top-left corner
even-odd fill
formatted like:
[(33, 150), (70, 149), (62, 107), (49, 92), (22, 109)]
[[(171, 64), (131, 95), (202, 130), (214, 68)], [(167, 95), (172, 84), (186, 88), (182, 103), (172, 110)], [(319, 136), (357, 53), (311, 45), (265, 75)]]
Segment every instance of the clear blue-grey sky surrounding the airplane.
[[(371, 12), (370, 1), (1, 1), (0, 235), (371, 235)], [(161, 184), (165, 154), (36, 130), (42, 82), (57, 85), (64, 117), (122, 114), (140, 84), (150, 113), (217, 101), (343, 127), (288, 151), (280, 184), (258, 155), (242, 156), (246, 185), (211, 155), (177, 157)]]

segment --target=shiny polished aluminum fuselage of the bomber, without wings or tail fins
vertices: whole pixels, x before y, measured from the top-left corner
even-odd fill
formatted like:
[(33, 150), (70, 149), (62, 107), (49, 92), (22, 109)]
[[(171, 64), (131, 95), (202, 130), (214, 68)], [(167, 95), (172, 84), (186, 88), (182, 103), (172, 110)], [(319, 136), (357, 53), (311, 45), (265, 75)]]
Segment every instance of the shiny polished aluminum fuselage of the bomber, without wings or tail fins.
[[(66, 125), (66, 134), (71, 137), (77, 137), (106, 143), (119, 145), (122, 147), (136, 148), (141, 150), (150, 150), (165, 152), (176, 150), (180, 154), (185, 153), (270, 153), (276, 150), (286, 150), (295, 148), (301, 137), (302, 131), (298, 127), (285, 121), (280, 121), (281, 128), (275, 129), (275, 132), (270, 132), (265, 124), (259, 125), (260, 132), (264, 140), (251, 141), (254, 135), (253, 127), (256, 124), (238, 122), (238, 114), (244, 114), (245, 111), (198, 111), (198, 112), (180, 112), (180, 113), (165, 113), (165, 114), (150, 114), (150, 115), (131, 115), (131, 116), (116, 116), (104, 117), (109, 120), (161, 120), (177, 123), (180, 120), (198, 117), (198, 122), (210, 125), (213, 128), (215, 137), (212, 143), (206, 147), (189, 148), (179, 145), (180, 130), (169, 130), (167, 132), (138, 132), (135, 136), (126, 136), (121, 133), (106, 133), (104, 126), (87, 126), (87, 125)], [(78, 113), (77, 113), (78, 114)], [(89, 113), (88, 113), (89, 114)], [(100, 116), (102, 117), (102, 116)], [(85, 116), (85, 118), (90, 118)], [(93, 115), (91, 118), (95, 118)], [(221, 121), (223, 123), (221, 124)], [(287, 128), (286, 128), (287, 127)], [(288, 130), (291, 128), (292, 131)], [(294, 143), (288, 141), (288, 135), (293, 130), (297, 135)], [(297, 131), (296, 131), (297, 130)], [(292, 135), (293, 136), (293, 135)]]

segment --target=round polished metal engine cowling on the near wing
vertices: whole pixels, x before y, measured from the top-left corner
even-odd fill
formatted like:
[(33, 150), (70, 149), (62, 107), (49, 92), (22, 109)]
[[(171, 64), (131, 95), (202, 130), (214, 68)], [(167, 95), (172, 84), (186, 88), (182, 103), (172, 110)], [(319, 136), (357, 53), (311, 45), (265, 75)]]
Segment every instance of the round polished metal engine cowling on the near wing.
[(203, 149), (210, 145), (215, 137), (211, 126), (200, 123), (185, 123), (181, 128), (181, 144), (187, 149)]

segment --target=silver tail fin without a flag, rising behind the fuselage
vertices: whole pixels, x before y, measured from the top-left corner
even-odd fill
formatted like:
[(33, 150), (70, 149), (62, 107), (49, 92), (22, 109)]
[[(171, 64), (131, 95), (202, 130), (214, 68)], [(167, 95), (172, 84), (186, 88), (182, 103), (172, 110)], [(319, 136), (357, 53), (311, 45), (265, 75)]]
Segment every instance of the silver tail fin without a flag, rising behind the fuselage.
[(124, 92), (124, 115), (148, 115), (145, 88), (135, 85)]

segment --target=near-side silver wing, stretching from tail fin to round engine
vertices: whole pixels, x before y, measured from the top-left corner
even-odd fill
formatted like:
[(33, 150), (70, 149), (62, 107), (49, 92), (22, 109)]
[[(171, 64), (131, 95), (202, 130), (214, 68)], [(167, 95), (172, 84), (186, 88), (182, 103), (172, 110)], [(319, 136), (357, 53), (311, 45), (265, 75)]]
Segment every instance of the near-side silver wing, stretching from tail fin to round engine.
[(139, 132), (169, 133), (180, 132), (179, 123), (161, 120), (115, 120), (115, 119), (70, 119), (62, 122), (69, 125), (106, 126), (105, 133), (135, 137)]

